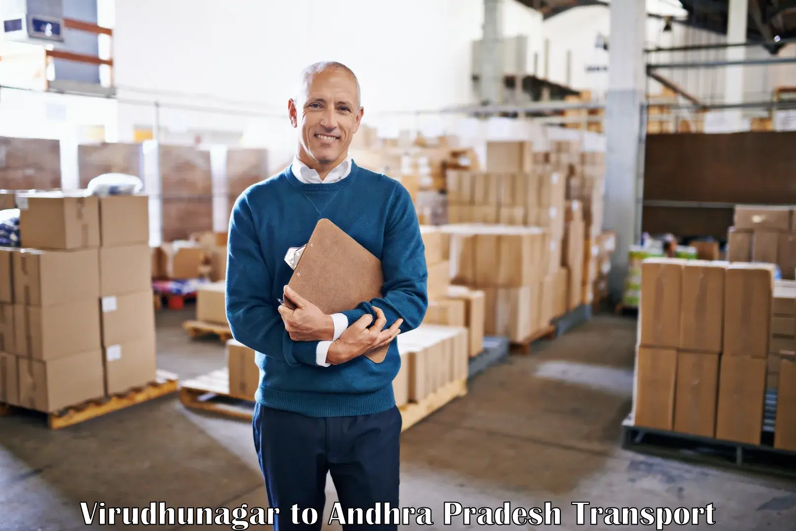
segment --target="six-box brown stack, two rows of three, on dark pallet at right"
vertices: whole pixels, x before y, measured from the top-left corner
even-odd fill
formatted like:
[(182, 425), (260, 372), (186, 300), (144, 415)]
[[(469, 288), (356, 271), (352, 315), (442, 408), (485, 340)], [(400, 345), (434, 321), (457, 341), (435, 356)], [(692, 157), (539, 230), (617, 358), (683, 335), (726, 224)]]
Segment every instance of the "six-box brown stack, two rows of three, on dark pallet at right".
[(759, 444), (773, 289), (767, 264), (645, 260), (635, 424)]

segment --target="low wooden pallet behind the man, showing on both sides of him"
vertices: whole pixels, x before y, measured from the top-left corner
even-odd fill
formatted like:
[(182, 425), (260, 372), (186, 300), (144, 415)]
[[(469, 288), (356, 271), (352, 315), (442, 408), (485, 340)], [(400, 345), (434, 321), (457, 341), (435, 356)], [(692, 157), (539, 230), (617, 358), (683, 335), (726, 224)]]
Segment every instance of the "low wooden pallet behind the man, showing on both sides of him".
[[(467, 381), (453, 381), (432, 392), (417, 403), (400, 406), (404, 427), (402, 431), (417, 424), (443, 405), (467, 393)], [(254, 402), (248, 396), (236, 396), (229, 391), (227, 369), (185, 381), (180, 385), (180, 402), (186, 408), (212, 412), (240, 420), (251, 421), (254, 416)]]

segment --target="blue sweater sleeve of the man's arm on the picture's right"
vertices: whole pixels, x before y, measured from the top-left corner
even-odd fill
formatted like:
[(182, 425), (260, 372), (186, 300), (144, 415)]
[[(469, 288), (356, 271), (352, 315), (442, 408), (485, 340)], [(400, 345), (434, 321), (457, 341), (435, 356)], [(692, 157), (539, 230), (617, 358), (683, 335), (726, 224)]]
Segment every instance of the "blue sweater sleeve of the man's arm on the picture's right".
[(373, 306), (384, 311), (387, 325), (404, 319), (401, 332), (414, 330), (428, 309), (428, 270), (425, 246), (420, 236), (420, 224), (412, 197), (403, 185), (396, 183), (388, 205), (387, 226), (384, 228), (381, 268), (384, 272), (382, 296), (342, 312), (349, 326), (364, 314), (377, 316)]

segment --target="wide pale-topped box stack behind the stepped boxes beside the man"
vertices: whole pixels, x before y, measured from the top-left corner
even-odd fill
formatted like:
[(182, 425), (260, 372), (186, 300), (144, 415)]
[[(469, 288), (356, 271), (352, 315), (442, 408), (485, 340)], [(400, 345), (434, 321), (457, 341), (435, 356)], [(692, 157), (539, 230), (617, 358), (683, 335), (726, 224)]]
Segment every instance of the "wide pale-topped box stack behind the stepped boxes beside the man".
[[(560, 259), (547, 232), (510, 225), (443, 225), (450, 237), (451, 283), (483, 291), (485, 333), (525, 342), (550, 322), (564, 299)], [(548, 287), (545, 291), (545, 287)], [(545, 294), (547, 296), (545, 296)], [(565, 304), (564, 304), (565, 306)]]

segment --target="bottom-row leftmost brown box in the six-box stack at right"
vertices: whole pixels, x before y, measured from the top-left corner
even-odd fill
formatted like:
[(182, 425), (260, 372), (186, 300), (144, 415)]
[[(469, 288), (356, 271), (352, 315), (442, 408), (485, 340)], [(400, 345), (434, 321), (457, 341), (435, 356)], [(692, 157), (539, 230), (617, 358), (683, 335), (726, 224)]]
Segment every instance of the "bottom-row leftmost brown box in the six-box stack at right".
[(639, 346), (636, 353), (634, 425), (671, 430), (677, 350)]

